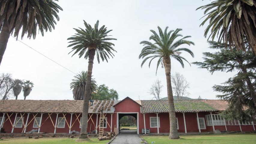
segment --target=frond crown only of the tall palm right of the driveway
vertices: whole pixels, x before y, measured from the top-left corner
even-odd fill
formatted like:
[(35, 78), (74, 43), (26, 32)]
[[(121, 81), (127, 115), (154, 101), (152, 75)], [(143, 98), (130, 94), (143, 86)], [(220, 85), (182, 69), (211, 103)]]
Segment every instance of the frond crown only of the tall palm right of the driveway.
[[(158, 33), (156, 33), (154, 30), (150, 30), (153, 34), (149, 37), (149, 40), (153, 41), (141, 41), (140, 44), (142, 44), (144, 47), (140, 52), (139, 58), (142, 58), (143, 61), (141, 63), (141, 67), (147, 60), (149, 60), (149, 67), (151, 65), (151, 62), (158, 58), (157, 61), (157, 67), (156, 67), (156, 73), (158, 70), (158, 67), (160, 64), (162, 64), (163, 67), (163, 59), (164, 58), (174, 58), (177, 61), (180, 62), (182, 67), (184, 67), (184, 61), (187, 61), (184, 57), (180, 56), (182, 52), (188, 52), (192, 57), (194, 57), (194, 53), (188, 49), (188, 48), (180, 48), (179, 46), (186, 44), (186, 45), (194, 45), (192, 41), (186, 40), (187, 38), (190, 38), (191, 36), (182, 36), (179, 34), (179, 32), (182, 29), (176, 29), (176, 30), (170, 30), (168, 32), (168, 27), (164, 29), (164, 31), (158, 26)], [(175, 41), (178, 37), (182, 37), (181, 39)], [(188, 62), (188, 61), (187, 61)]]

